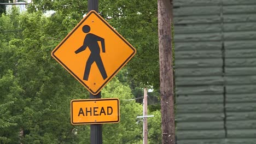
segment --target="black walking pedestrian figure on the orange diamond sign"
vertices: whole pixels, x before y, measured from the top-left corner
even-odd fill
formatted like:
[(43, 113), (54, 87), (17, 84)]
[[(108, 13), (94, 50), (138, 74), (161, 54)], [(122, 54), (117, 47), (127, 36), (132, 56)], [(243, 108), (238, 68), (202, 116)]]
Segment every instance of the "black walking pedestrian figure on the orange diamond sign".
[(101, 41), (101, 47), (102, 47), (102, 52), (105, 52), (105, 42), (104, 39), (101, 37), (98, 37), (95, 34), (89, 33), (91, 30), (90, 26), (85, 25), (83, 26), (83, 32), (84, 33), (88, 33), (86, 34), (85, 38), (84, 38), (84, 44), (75, 51), (75, 53), (79, 53), (82, 52), (86, 49), (86, 47), (89, 47), (91, 54), (88, 58), (88, 61), (86, 62), (85, 65), (85, 70), (84, 70), (84, 80), (88, 80), (89, 77), (89, 73), (91, 70), (91, 65), (92, 63), (96, 63), (98, 69), (100, 70), (101, 76), (103, 77), (103, 79), (107, 79), (107, 74), (106, 74), (106, 70), (104, 68), (104, 65), (102, 63), (101, 60), (101, 56), (100, 56), (100, 46), (98, 45), (98, 41)]

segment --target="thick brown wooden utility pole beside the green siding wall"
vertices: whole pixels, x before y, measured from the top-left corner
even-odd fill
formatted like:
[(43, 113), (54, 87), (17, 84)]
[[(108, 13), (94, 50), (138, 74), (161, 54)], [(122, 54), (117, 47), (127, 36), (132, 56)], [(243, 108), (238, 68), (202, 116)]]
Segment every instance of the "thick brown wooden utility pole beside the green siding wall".
[(175, 143), (171, 21), (172, 0), (158, 0), (162, 143), (165, 144)]

